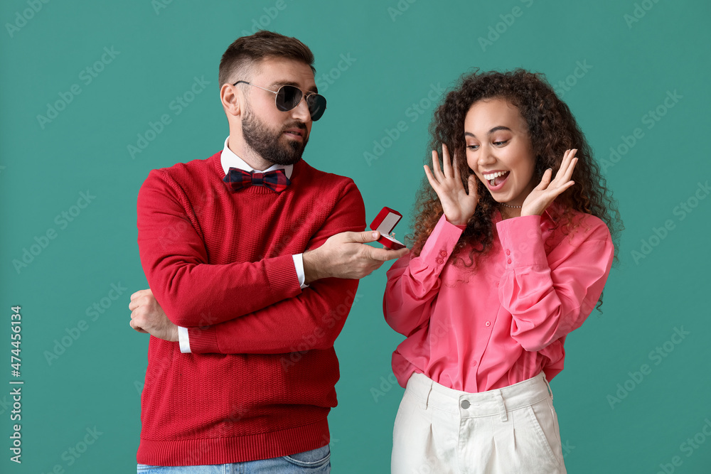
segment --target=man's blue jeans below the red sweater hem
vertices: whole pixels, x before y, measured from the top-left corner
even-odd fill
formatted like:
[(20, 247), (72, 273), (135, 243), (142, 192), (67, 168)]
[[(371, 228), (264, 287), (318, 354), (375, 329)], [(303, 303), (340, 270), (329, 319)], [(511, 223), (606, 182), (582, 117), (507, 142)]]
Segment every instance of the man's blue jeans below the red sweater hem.
[(159, 466), (138, 465), (138, 474), (328, 474), (331, 448), (328, 444), (304, 453), (247, 461), (245, 463)]

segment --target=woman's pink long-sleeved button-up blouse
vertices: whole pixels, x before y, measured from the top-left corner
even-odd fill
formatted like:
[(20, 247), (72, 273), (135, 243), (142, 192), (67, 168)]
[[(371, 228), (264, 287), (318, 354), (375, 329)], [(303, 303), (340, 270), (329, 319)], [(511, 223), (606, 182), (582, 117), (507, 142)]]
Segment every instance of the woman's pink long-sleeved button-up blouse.
[[(554, 203), (555, 205), (555, 203)], [(442, 215), (419, 257), (387, 271), (385, 321), (407, 336), (392, 353), (402, 387), (412, 372), (464, 392), (507, 387), (563, 369), (565, 336), (594, 309), (614, 247), (605, 223), (577, 213), (574, 232), (542, 216), (502, 220), (476, 271), (449, 260), (464, 226)], [(467, 246), (458, 257), (468, 261)]]

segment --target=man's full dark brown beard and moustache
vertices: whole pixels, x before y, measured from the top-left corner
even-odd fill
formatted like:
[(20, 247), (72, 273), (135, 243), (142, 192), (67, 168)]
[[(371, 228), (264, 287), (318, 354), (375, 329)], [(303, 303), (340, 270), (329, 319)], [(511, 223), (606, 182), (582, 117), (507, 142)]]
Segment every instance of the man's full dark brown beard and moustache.
[[(288, 140), (287, 144), (282, 144), (282, 134), (284, 130), (298, 128), (304, 131), (304, 141)], [(242, 136), (247, 145), (262, 156), (265, 160), (276, 165), (293, 165), (301, 160), (306, 143), (309, 142), (306, 136), (306, 125), (301, 122), (292, 122), (285, 125), (279, 131), (269, 129), (264, 122), (257, 118), (255, 114), (247, 110), (242, 119)]]

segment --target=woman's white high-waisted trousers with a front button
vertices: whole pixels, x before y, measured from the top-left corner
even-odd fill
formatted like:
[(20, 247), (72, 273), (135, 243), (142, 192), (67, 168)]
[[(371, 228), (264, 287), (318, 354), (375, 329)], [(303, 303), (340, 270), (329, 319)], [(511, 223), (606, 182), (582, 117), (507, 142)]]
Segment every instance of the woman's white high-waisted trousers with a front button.
[(395, 416), (391, 472), (565, 474), (545, 375), (472, 394), (413, 374)]

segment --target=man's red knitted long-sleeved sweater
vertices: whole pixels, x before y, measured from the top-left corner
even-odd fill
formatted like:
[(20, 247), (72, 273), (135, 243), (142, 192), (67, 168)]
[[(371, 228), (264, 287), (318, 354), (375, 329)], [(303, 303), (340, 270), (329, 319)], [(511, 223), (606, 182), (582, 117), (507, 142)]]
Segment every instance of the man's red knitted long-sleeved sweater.
[(150, 339), (141, 464), (237, 463), (329, 441), (333, 342), (358, 280), (301, 290), (292, 254), (363, 231), (363, 198), (350, 178), (304, 161), (282, 193), (232, 192), (220, 153), (151, 171), (139, 191), (141, 264), (193, 352)]

